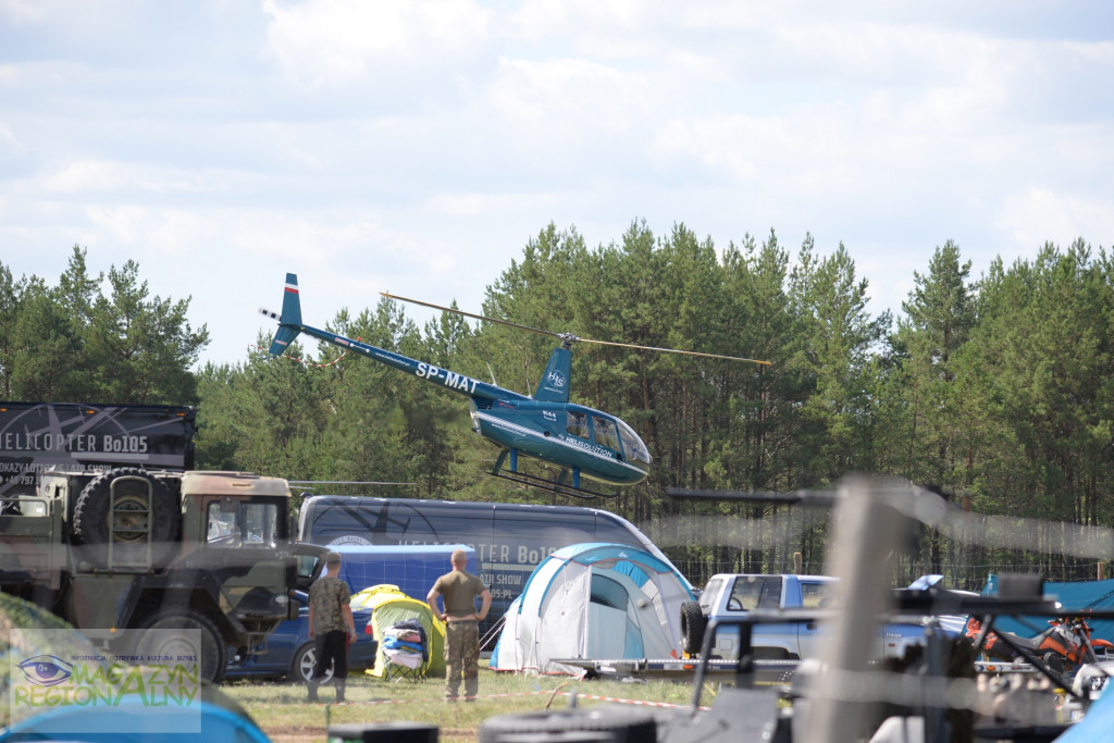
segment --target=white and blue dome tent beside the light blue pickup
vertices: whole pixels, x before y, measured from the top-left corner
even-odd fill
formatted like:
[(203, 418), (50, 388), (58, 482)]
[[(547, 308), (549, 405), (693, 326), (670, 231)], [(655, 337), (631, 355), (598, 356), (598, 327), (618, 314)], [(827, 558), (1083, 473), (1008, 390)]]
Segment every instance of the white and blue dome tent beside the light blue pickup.
[(693, 593), (673, 565), (607, 542), (570, 545), (534, 570), (504, 618), (489, 667), (564, 672), (560, 658), (677, 657), (681, 603)]

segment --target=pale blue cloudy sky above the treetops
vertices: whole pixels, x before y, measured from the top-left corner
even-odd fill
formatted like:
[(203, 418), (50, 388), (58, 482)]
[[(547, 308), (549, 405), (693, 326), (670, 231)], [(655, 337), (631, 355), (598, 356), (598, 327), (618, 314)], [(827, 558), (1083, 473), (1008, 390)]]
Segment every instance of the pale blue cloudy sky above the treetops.
[(949, 238), (1114, 243), (1112, 90), (1105, 0), (0, 0), (0, 261), (134, 258), (216, 362), (287, 271), (479, 311), (549, 222), (811, 233), (897, 311)]

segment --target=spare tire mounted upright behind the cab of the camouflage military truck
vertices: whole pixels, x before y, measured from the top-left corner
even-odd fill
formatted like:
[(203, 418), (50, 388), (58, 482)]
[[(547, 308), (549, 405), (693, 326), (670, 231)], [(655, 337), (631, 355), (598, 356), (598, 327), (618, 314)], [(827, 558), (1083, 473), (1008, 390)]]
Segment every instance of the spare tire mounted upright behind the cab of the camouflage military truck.
[(101, 472), (74, 506), (74, 535), (85, 559), (97, 567), (146, 563), (165, 565), (178, 550), (178, 497), (163, 480), (137, 467)]

